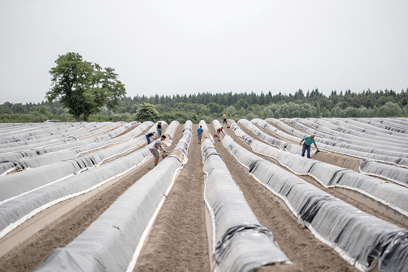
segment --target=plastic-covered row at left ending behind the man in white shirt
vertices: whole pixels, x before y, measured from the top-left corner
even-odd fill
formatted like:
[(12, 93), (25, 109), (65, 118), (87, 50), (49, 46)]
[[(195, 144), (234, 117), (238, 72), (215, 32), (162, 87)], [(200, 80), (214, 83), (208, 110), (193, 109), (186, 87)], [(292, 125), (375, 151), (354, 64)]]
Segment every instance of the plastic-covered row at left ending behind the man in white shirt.
[[(153, 129), (153, 128), (152, 128)], [(141, 138), (144, 136), (141, 136)], [(42, 210), (66, 199), (85, 194), (106, 182), (119, 177), (152, 157), (150, 145), (129, 155), (115, 159), (81, 175), (47, 184), (0, 205), (0, 238)]]

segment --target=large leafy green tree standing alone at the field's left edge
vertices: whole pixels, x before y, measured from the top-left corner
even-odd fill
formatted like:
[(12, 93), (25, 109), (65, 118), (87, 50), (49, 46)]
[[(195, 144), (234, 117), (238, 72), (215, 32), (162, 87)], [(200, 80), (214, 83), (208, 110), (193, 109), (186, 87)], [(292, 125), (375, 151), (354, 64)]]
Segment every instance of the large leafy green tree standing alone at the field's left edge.
[(55, 63), (57, 65), (49, 70), (53, 88), (45, 98), (48, 102), (61, 102), (77, 122), (81, 116), (88, 121), (89, 115), (99, 113), (105, 105), (114, 111), (119, 99), (126, 95), (113, 68), (83, 61), (82, 56), (74, 52), (58, 56)]

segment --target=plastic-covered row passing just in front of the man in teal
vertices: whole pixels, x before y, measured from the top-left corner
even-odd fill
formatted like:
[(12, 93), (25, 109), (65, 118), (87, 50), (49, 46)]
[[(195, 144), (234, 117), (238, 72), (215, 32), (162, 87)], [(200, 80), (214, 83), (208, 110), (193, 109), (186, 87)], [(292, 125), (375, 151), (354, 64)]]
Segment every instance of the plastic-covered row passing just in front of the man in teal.
[(408, 216), (408, 188), (393, 183), (384, 183), (380, 179), (326, 164), (326, 162), (288, 154), (253, 139), (235, 123), (232, 129), (237, 136), (239, 135), (250, 144), (253, 151), (276, 159), (279, 164), (295, 174), (309, 175), (324, 187), (340, 187), (359, 192)]

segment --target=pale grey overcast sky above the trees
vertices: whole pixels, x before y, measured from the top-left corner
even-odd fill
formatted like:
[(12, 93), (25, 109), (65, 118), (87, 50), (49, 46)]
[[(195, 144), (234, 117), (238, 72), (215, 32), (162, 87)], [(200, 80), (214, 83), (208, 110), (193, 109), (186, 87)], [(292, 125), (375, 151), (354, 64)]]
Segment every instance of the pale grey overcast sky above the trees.
[(0, 103), (43, 100), (69, 51), (132, 97), (408, 87), (406, 0), (0, 3)]

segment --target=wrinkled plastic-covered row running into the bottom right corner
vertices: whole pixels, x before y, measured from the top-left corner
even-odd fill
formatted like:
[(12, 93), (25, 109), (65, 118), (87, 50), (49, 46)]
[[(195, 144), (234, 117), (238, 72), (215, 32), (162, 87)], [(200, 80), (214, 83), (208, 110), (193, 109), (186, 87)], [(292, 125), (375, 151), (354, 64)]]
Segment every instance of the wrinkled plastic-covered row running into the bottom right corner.
[(285, 201), (300, 223), (359, 270), (369, 270), (375, 260), (381, 272), (408, 267), (408, 231), (321, 191), (231, 137), (225, 137), (223, 144), (250, 175)]

